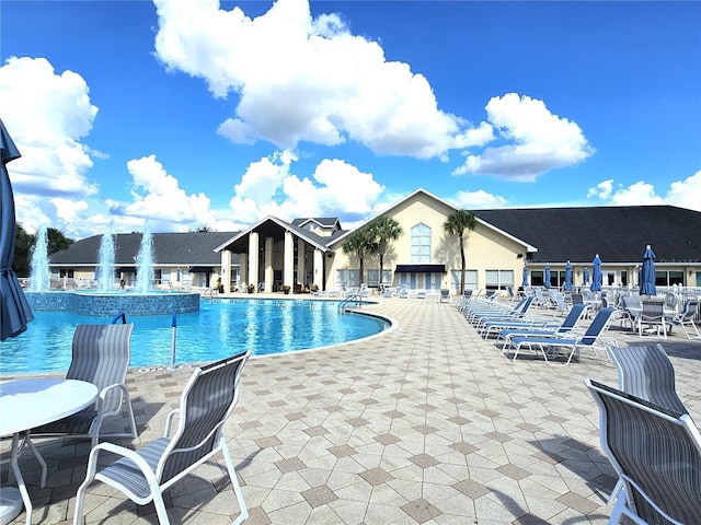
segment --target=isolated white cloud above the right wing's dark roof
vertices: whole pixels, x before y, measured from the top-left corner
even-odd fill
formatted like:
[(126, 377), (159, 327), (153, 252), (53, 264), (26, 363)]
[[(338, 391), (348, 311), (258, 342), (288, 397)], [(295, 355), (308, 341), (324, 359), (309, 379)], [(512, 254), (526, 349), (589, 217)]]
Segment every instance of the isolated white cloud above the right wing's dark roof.
[(542, 101), (508, 93), (492, 97), (485, 109), (502, 145), (468, 155), (456, 175), (535, 182), (550, 170), (578, 164), (594, 153), (579, 126), (552, 114)]

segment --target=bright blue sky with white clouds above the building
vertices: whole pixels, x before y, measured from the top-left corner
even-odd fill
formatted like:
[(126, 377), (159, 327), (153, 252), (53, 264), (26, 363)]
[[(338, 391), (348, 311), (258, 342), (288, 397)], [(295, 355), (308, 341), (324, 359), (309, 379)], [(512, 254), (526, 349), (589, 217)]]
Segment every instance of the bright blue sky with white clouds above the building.
[(466, 209), (701, 211), (700, 2), (12, 1), (18, 219), (73, 238)]

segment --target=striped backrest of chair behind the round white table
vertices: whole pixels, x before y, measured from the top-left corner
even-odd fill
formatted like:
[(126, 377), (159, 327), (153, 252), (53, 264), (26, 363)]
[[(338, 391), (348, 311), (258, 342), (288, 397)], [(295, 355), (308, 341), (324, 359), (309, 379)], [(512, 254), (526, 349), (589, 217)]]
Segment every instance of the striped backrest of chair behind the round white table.
[[(129, 369), (134, 323), (115, 325), (78, 325), (73, 332), (73, 351), (68, 380), (92, 383), (99, 390), (124, 384)], [(103, 412), (115, 412), (122, 393), (113, 389), (103, 402)]]

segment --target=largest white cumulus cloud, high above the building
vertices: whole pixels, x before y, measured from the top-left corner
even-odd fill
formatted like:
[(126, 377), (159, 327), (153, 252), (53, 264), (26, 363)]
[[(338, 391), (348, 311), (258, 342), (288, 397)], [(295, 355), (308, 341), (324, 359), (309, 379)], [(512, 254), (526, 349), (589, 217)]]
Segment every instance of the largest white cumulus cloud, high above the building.
[(338, 15), (312, 18), (308, 0), (278, 0), (254, 19), (217, 0), (154, 4), (163, 65), (204, 79), (216, 97), (239, 97), (218, 129), (237, 143), (355, 141), (381, 154), (445, 159), (493, 137), (489, 124), (440, 110), (423, 75), (388, 61)]

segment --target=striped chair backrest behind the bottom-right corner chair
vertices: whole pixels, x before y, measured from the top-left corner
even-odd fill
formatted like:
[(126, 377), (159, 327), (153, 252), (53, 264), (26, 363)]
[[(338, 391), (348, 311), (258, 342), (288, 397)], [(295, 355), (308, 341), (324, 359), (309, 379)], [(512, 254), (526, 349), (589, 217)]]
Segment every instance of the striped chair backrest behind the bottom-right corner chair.
[(677, 396), (675, 368), (662, 345), (606, 347), (618, 370), (618, 387), (660, 407), (689, 413)]

